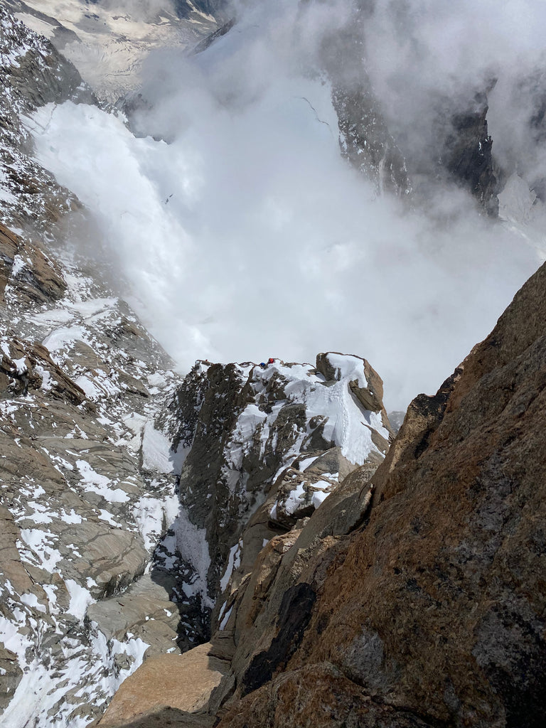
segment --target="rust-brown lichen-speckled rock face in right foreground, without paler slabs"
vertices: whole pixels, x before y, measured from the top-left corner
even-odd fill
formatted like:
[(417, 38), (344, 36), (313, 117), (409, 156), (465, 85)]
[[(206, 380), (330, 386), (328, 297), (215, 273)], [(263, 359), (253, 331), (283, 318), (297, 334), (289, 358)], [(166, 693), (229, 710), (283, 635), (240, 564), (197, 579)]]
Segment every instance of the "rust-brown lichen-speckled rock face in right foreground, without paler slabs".
[(411, 404), (292, 672), (228, 703), (222, 728), (546, 724), (545, 294), (542, 266)]

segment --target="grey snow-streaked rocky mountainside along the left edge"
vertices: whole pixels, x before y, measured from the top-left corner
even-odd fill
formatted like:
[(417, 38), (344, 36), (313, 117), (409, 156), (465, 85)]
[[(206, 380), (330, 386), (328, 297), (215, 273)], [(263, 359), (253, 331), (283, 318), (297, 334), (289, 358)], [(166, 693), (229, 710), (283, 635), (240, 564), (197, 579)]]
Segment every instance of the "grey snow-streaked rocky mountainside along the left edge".
[[(12, 228), (0, 224), (0, 708), (7, 725), (76, 726), (145, 650), (179, 649), (170, 585), (150, 575), (178, 512), (176, 456), (154, 428), (178, 379), (97, 282), (107, 272), (61, 239), (59, 218), (84, 223), (81, 206), (31, 157), (20, 117), (92, 94), (47, 40), (0, 12), (1, 215)], [(100, 605), (135, 579), (135, 609), (108, 622)]]

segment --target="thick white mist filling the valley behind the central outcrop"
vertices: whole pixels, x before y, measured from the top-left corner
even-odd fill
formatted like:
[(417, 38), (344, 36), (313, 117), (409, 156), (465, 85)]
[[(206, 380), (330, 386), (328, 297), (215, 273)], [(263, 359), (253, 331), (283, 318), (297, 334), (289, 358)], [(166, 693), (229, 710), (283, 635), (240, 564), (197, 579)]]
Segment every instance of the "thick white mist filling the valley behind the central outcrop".
[[(503, 56), (509, 7), (523, 30)], [(348, 1), (253, 3), (206, 52), (151, 55), (152, 108), (138, 126), (169, 143), (71, 103), (41, 109), (31, 127), (39, 160), (95, 215), (132, 304), (181, 368), (353, 353), (399, 409), (435, 392), (540, 261), (463, 191), (438, 184), (426, 204), (403, 205), (341, 157), (320, 52), (351, 12)], [(376, 3), (365, 63), (414, 154), (427, 149), (438, 93), (466, 98), (493, 74), (508, 94), (514, 59), (536, 66), (537, 12), (518, 1)], [(501, 106), (499, 130), (517, 122)]]

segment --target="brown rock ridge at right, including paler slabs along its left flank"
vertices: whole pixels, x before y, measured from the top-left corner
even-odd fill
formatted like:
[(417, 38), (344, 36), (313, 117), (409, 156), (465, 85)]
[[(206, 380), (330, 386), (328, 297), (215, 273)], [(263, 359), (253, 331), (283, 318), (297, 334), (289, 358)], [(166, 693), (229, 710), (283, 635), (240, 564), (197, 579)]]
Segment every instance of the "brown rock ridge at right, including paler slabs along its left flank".
[(105, 724), (542, 726), (545, 288), (546, 265), (411, 403), (375, 474), (353, 470), (232, 581), (208, 648), (229, 670), (200, 711)]

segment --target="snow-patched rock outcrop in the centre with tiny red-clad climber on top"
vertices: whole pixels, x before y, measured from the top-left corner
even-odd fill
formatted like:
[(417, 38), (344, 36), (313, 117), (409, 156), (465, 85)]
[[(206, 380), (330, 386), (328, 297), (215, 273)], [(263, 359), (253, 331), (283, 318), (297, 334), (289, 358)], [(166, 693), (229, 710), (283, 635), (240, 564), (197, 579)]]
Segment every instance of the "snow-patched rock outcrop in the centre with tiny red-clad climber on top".
[(197, 363), (164, 422), (186, 451), (181, 503), (200, 543), (178, 549), (194, 571), (183, 593), (213, 609), (264, 542), (309, 518), (357, 465), (375, 470), (391, 434), (381, 395), (368, 362), (332, 352), (316, 368)]

